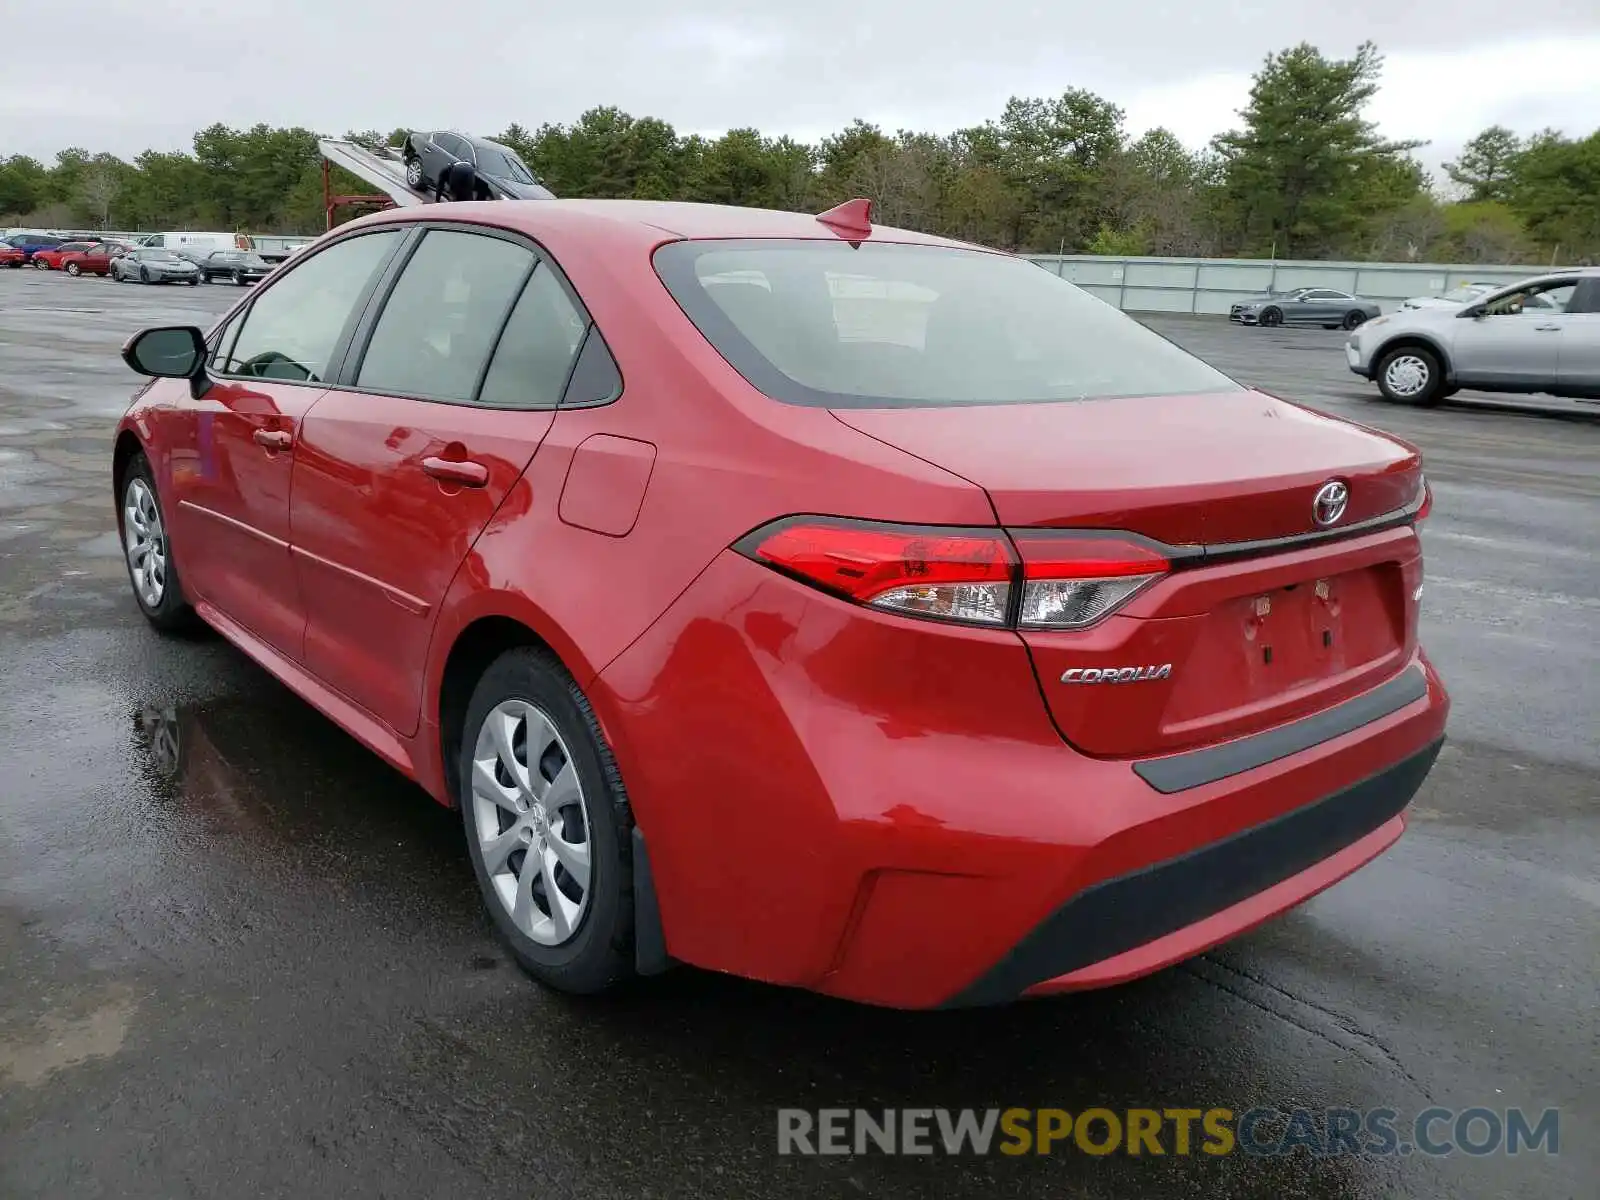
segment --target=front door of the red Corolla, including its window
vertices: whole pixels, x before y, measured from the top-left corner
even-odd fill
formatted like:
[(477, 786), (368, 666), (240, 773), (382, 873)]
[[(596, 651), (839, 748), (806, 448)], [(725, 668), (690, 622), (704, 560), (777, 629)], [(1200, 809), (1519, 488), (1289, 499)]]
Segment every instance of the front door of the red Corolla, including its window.
[(184, 584), (291, 659), (306, 630), (288, 550), (294, 443), (400, 240), (330, 243), (256, 294), (222, 331), (211, 387), (189, 405), (189, 461), (174, 459)]

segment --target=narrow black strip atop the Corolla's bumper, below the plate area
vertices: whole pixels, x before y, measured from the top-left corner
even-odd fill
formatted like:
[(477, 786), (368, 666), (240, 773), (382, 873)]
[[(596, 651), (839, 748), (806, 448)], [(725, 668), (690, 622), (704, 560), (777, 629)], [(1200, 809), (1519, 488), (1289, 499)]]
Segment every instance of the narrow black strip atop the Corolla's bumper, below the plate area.
[(1427, 677), (1422, 667), (1406, 667), (1387, 683), (1360, 696), (1336, 704), (1304, 720), (1280, 725), (1275, 730), (1253, 733), (1248, 738), (1189, 750), (1166, 758), (1147, 758), (1133, 770), (1144, 782), (1162, 794), (1182, 792), (1202, 784), (1214, 784), (1230, 774), (1266, 766), (1312, 746), (1342, 738), (1371, 722), (1398, 712), (1406, 704), (1416, 704), (1427, 696)]

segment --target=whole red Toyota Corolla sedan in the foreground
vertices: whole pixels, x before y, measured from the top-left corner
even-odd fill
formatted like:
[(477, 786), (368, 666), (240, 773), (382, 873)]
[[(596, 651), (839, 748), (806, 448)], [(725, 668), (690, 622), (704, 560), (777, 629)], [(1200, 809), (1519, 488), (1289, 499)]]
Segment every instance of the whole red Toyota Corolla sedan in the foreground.
[(557, 987), (1130, 979), (1379, 854), (1443, 739), (1411, 446), (866, 202), (382, 213), (123, 354), (144, 614), (458, 806)]

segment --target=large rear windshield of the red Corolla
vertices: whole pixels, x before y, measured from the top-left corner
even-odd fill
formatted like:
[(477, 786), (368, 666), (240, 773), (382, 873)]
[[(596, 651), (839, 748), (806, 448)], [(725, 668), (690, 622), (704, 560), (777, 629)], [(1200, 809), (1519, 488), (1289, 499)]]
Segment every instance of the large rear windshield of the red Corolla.
[(1050, 403), (1238, 384), (1024, 259), (866, 242), (674, 242), (656, 272), (757, 389), (824, 408)]

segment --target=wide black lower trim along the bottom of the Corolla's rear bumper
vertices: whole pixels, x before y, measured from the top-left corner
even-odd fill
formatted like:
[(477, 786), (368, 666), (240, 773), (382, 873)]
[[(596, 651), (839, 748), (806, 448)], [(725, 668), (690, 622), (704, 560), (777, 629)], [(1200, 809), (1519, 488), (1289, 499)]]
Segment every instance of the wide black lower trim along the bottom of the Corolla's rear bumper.
[(1008, 1003), (1034, 984), (1165, 938), (1314, 867), (1400, 813), (1443, 744), (1440, 738), (1293, 813), (1085, 888), (944, 1008)]

